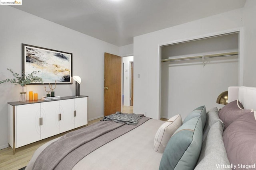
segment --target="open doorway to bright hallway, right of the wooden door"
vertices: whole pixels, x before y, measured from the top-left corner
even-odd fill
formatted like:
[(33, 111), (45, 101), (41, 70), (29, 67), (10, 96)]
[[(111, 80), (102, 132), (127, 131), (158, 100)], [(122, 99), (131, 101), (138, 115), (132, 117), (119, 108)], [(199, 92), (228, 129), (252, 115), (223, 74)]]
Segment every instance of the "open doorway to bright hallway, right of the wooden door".
[(122, 57), (122, 112), (133, 113), (133, 56)]

